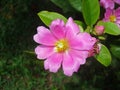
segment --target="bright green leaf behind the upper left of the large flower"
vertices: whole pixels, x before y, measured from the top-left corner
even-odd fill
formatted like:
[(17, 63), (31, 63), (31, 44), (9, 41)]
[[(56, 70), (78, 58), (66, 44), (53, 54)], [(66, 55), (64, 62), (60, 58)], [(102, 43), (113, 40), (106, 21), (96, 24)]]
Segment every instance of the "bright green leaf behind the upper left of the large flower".
[(64, 22), (67, 21), (67, 19), (63, 15), (57, 12), (41, 11), (38, 13), (38, 16), (43, 21), (43, 23), (47, 26), (49, 26), (50, 23), (55, 19), (62, 19)]

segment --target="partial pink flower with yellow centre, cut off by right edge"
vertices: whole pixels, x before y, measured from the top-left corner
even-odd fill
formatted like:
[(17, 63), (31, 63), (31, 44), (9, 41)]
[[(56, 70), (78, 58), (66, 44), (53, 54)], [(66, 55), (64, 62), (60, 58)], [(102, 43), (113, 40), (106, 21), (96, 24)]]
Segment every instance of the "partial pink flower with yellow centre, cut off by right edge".
[(120, 26), (120, 7), (116, 10), (106, 9), (103, 20), (114, 22)]

